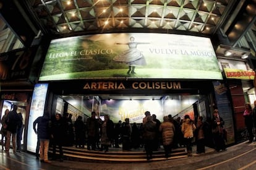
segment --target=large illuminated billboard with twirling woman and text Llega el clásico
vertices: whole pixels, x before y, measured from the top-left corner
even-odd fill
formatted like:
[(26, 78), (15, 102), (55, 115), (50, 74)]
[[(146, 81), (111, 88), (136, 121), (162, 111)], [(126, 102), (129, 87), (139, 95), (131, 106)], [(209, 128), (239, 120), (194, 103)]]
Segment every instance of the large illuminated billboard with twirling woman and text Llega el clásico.
[(109, 33), (52, 40), (40, 79), (222, 80), (210, 38)]

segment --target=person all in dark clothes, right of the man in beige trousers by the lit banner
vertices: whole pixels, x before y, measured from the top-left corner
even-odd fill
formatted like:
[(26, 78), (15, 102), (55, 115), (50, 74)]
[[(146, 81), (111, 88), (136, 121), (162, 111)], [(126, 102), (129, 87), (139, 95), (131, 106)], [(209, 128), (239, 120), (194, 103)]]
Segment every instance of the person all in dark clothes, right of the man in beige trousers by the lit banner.
[(56, 146), (59, 147), (59, 159), (63, 161), (63, 142), (66, 137), (67, 122), (62, 119), (61, 114), (55, 114), (55, 119), (51, 123), (51, 138), (53, 139), (53, 160), (56, 159)]

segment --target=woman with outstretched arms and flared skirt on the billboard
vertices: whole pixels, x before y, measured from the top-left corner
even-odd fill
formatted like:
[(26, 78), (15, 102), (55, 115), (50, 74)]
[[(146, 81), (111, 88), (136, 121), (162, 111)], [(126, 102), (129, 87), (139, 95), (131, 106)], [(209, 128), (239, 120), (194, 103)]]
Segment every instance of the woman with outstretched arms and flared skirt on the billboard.
[(129, 66), (127, 74), (135, 74), (135, 66), (145, 66), (146, 60), (142, 52), (137, 49), (137, 45), (149, 44), (134, 42), (134, 37), (130, 37), (129, 43), (115, 43), (116, 45), (128, 45), (129, 49), (124, 50), (121, 54), (113, 58), (114, 61), (126, 63)]

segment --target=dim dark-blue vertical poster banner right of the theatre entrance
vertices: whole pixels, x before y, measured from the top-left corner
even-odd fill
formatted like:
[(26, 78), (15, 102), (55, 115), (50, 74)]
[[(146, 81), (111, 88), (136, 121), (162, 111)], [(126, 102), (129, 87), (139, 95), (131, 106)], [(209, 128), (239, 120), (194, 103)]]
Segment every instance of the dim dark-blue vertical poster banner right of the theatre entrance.
[(224, 121), (224, 128), (228, 132), (226, 144), (234, 143), (234, 124), (231, 103), (228, 100), (227, 88), (221, 82), (213, 82), (215, 96), (220, 116)]

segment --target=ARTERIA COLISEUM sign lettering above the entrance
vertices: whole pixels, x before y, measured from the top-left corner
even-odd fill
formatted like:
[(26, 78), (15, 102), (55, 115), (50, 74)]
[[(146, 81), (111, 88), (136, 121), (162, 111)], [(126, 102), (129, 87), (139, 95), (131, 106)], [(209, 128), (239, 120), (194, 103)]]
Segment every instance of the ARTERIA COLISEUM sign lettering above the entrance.
[(87, 90), (123, 90), (127, 88), (141, 90), (170, 90), (181, 89), (180, 82), (133, 82), (131, 87), (122, 82), (88, 82), (83, 89)]

